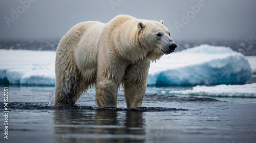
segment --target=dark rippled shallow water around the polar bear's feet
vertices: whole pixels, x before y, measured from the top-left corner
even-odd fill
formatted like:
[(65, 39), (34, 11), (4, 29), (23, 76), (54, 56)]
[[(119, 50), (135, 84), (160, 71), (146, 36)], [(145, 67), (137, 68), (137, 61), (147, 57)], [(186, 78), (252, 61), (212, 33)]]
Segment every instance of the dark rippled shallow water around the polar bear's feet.
[(120, 90), (118, 109), (98, 109), (94, 89), (76, 107), (53, 107), (54, 87), (9, 86), (0, 142), (255, 142), (256, 98), (161, 95), (184, 89), (148, 87), (147, 109), (127, 109)]

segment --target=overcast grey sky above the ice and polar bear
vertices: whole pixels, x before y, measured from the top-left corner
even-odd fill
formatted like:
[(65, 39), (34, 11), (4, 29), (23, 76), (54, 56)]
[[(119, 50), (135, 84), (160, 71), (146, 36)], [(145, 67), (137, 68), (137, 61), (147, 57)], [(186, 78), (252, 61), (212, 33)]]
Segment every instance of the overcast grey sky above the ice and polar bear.
[(173, 39), (256, 38), (256, 1), (252, 0), (32, 1), (0, 0), (0, 38), (61, 38), (79, 22), (106, 23), (118, 14), (162, 19)]

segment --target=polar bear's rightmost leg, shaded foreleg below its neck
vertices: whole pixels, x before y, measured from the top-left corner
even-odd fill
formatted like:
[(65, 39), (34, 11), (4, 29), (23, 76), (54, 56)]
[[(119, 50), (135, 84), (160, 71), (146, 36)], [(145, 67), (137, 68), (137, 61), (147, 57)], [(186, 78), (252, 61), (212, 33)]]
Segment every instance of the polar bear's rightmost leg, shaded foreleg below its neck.
[(127, 108), (141, 108), (146, 93), (149, 60), (140, 60), (126, 69), (124, 96)]

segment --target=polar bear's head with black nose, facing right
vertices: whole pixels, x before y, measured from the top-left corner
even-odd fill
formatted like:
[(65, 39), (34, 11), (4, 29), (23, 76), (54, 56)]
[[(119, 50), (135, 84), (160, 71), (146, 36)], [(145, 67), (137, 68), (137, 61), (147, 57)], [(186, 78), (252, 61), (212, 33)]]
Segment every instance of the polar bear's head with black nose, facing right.
[(170, 38), (170, 32), (163, 20), (142, 21), (137, 23), (139, 41), (148, 50), (147, 58), (157, 60), (164, 54), (172, 53), (177, 47)]

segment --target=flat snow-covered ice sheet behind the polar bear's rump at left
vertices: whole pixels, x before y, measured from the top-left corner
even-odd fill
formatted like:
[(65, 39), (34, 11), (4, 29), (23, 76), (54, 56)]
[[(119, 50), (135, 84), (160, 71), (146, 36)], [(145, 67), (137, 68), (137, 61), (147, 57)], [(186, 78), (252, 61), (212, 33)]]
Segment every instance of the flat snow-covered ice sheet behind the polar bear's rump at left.
[(0, 50), (0, 83), (55, 85), (55, 51)]

